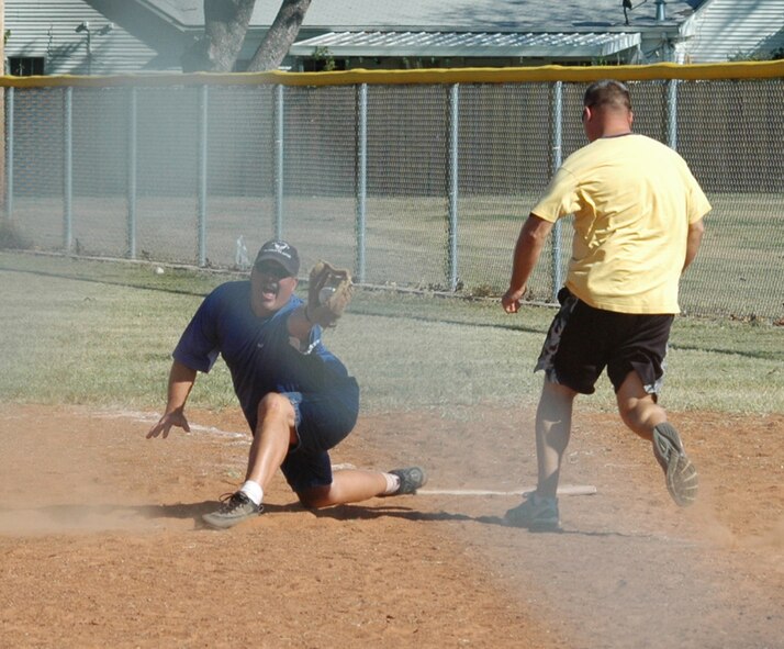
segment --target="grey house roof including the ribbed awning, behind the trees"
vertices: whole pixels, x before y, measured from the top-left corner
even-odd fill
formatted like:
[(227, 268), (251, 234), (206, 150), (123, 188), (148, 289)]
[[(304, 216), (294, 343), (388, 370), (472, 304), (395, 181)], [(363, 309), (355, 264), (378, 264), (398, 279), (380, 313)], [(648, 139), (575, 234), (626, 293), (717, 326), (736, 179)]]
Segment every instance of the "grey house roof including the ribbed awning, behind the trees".
[[(657, 20), (658, 0), (632, 0), (626, 12), (620, 0), (328, 0), (310, 5), (290, 54), (306, 58), (318, 47), (347, 58), (584, 61), (625, 53), (628, 63), (647, 60), (650, 51), (658, 60), (660, 43), (677, 41), (705, 1), (668, 0), (663, 20)], [(136, 2), (183, 31), (203, 29), (203, 0)], [(257, 1), (249, 33), (266, 31), (279, 7)], [(246, 49), (247, 44), (244, 54), (250, 56)]]

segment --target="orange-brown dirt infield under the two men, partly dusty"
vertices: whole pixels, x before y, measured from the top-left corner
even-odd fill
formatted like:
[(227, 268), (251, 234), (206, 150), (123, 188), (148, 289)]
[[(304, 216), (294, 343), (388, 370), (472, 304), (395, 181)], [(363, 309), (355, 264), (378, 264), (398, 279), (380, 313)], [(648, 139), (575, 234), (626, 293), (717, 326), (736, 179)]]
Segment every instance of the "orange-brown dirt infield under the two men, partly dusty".
[(501, 525), (535, 480), (530, 414), (360, 417), (336, 463), (422, 462), (430, 491), (199, 525), (242, 480), (237, 412), (3, 405), (1, 647), (773, 649), (784, 637), (784, 415), (681, 414), (698, 505), (669, 501), (617, 418), (578, 413), (563, 534)]

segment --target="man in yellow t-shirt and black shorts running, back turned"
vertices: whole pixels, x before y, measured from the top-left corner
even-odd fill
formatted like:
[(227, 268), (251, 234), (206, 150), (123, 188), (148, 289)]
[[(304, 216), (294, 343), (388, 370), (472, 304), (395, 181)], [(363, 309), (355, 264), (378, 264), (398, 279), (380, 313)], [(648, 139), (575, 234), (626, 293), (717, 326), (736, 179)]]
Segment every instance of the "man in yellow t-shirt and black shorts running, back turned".
[(615, 389), (624, 423), (652, 443), (670, 495), (694, 502), (697, 472), (657, 395), (681, 273), (694, 260), (710, 204), (674, 150), (632, 133), (629, 91), (615, 80), (589, 87), (572, 154), (534, 206), (515, 246), (502, 299), (516, 313), (528, 278), (559, 219), (574, 214), (574, 242), (561, 309), (536, 369), (545, 371), (536, 417), (537, 490), (506, 513), (512, 525), (560, 529), (557, 489), (578, 394), (600, 374)]

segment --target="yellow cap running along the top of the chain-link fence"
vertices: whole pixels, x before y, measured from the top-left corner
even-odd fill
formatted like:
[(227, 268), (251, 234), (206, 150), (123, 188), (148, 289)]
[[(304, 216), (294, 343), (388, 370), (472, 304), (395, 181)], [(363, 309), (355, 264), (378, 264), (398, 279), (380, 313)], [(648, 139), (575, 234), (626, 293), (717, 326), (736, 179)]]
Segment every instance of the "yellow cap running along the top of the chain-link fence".
[(417, 70), (362, 70), (337, 72), (195, 72), (119, 76), (0, 77), (0, 87), (160, 87), (160, 86), (354, 86), (360, 83), (520, 83), (592, 82), (613, 78), (623, 81), (652, 79), (770, 79), (784, 78), (784, 60), (680, 65), (662, 63), (638, 66), (540, 66), (528, 68), (438, 68)]

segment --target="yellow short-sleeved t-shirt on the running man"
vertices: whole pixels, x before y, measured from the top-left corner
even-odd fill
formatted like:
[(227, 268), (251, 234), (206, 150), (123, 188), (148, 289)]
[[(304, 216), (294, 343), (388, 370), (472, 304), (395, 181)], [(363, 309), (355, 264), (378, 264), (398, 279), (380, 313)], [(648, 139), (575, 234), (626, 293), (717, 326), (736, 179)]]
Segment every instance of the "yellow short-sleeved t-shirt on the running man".
[(620, 313), (679, 313), (688, 225), (710, 203), (683, 158), (645, 135), (603, 137), (574, 152), (531, 210), (574, 214), (567, 288)]

